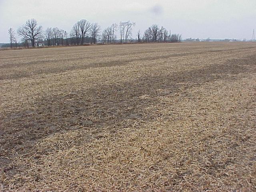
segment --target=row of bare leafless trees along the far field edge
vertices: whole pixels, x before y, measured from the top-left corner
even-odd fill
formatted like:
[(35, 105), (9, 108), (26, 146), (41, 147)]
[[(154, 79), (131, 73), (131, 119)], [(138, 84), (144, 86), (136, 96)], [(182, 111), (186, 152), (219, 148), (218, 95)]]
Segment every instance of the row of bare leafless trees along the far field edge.
[[(18, 28), (17, 33), (13, 28), (8, 29), (10, 47), (18, 46), (68, 46), (84, 44), (116, 44), (116, 43), (148, 43), (148, 42), (180, 42), (181, 34), (172, 34), (163, 26), (152, 24), (143, 34), (137, 32), (136, 40), (132, 39), (132, 29), (135, 22), (121, 21), (119, 24), (113, 23), (102, 30), (98, 23), (90, 23), (86, 19), (76, 22), (70, 33), (58, 27), (43, 27), (37, 20), (29, 19)], [(17, 35), (16, 35), (17, 34)], [(22, 39), (17, 42), (17, 36)], [(8, 46), (8, 45), (7, 45)]]

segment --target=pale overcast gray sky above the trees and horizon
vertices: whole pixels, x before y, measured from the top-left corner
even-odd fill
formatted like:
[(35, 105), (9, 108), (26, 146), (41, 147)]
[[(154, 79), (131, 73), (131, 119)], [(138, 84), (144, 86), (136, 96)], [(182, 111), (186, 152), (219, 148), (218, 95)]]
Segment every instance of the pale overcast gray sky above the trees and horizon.
[(121, 20), (136, 22), (133, 36), (157, 23), (182, 38), (251, 39), (256, 29), (256, 0), (0, 0), (0, 42), (35, 18), (45, 28), (68, 32), (80, 19), (102, 28)]

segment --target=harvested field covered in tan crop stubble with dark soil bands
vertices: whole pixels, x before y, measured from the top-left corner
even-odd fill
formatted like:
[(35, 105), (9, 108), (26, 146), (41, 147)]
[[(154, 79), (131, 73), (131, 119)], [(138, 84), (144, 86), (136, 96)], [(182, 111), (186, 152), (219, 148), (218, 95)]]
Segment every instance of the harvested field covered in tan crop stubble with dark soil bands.
[(256, 43), (0, 51), (0, 190), (256, 191)]

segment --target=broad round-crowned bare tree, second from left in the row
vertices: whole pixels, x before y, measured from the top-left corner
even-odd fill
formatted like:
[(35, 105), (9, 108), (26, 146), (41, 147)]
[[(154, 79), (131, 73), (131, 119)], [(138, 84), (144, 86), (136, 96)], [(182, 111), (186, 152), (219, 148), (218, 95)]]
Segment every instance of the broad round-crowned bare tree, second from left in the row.
[(38, 25), (35, 19), (29, 19), (18, 29), (18, 34), (25, 39), (31, 40), (32, 47), (34, 47), (35, 39), (43, 34), (43, 27)]

